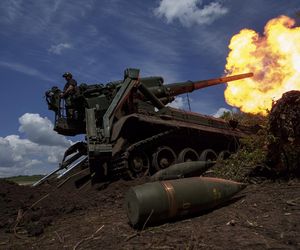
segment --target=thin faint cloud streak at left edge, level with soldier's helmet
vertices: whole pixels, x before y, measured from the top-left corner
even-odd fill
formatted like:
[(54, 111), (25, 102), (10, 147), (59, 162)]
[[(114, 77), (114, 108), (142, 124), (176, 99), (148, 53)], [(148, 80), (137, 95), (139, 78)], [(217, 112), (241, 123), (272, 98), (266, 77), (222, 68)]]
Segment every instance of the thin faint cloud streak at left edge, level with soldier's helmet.
[(53, 81), (53, 79), (48, 78), (46, 74), (43, 74), (37, 69), (20, 63), (0, 61), (0, 67), (5, 67), (13, 71), (23, 73), (25, 75), (35, 76), (45, 81), (51, 81), (51, 82)]

